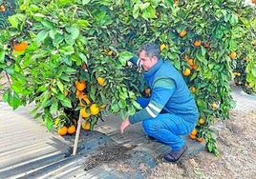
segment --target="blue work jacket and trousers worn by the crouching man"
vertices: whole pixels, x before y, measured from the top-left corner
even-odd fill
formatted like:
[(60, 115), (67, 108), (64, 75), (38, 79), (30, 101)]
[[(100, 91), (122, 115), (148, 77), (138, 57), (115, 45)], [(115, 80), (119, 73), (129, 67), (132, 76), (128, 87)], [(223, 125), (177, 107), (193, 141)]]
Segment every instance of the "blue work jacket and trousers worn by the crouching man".
[[(130, 60), (139, 66), (139, 59)], [(145, 133), (160, 142), (179, 150), (184, 142), (181, 135), (189, 134), (199, 119), (194, 97), (187, 88), (181, 73), (169, 61), (161, 58), (148, 71), (143, 72), (150, 98), (139, 98), (142, 107), (129, 116), (131, 124), (142, 121)]]

